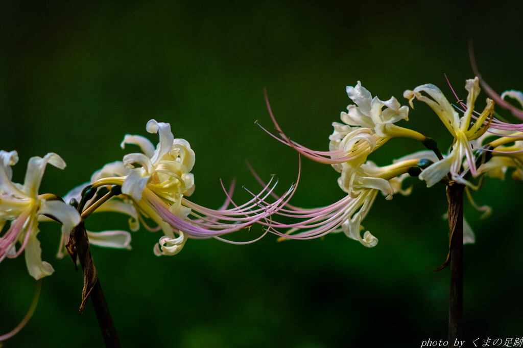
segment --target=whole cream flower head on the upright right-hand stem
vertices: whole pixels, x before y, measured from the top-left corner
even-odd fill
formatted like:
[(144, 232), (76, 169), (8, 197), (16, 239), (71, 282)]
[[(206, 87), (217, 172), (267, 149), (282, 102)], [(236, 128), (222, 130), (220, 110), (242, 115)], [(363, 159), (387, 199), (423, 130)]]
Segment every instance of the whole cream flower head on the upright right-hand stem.
[[(427, 187), (449, 181), (464, 185), (471, 204), (484, 212), (482, 217), (490, 214), (490, 207), (475, 204), (469, 189), (479, 189), (484, 175), (503, 178), (509, 167), (515, 168), (513, 178), (523, 177), (523, 132), (520, 131), (523, 128), (521, 125), (510, 125), (495, 119), (494, 102), (490, 98), (486, 99), (486, 106), (481, 113), (475, 111), (476, 99), (480, 94), (479, 85), (477, 77), (467, 80), (466, 103), (458, 98), (463, 109), (451, 105), (433, 84), (420, 85), (404, 92), (412, 109), (414, 99), (426, 103), (451, 133), (454, 141), (446, 155), (440, 153), (433, 139), (396, 125), (396, 122), (408, 120), (408, 106), (401, 106), (394, 97), (386, 101), (372, 97), (359, 81), (354, 87), (347, 86), (347, 95), (354, 104), (349, 105), (347, 112), (341, 114), (343, 123), (333, 122), (334, 132), (329, 136), (329, 151), (312, 150), (291, 141), (279, 127), (266, 100), (270, 117), (280, 137), (270, 134), (265, 128), (264, 130), (307, 158), (331, 164), (340, 173), (339, 187), (347, 193), (347, 197), (322, 208), (303, 209), (288, 204), (279, 209), (276, 215), (293, 217), (299, 219), (299, 222), (284, 224), (271, 221), (269, 229), (285, 239), (309, 239), (343, 231), (362, 245), (375, 246), (378, 239), (369, 231), (361, 237), (361, 220), (368, 214), (378, 192), (388, 200), (395, 193), (410, 194), (412, 187), (407, 190), (401, 188), (402, 181), (408, 176), (418, 176), (425, 181)], [(515, 98), (523, 106), (521, 92), (507, 91), (501, 98), (507, 96)], [(420, 141), (430, 151), (403, 155), (391, 165), (383, 167), (368, 160), (372, 152), (396, 137)], [(489, 137), (496, 139), (484, 144)], [(463, 241), (475, 241), (467, 221), (464, 221)]]

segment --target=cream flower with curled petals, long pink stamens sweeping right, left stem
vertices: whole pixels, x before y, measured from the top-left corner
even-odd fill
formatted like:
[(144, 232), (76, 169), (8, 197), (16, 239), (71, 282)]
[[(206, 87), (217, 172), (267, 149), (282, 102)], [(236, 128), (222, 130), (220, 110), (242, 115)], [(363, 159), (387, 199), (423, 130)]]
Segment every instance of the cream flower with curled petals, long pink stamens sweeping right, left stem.
[[(186, 140), (174, 139), (169, 124), (150, 120), (147, 131), (160, 134), (156, 149), (144, 137), (125, 136), (122, 147), (125, 144), (135, 144), (143, 153), (128, 154), (122, 162), (107, 164), (93, 175), (90, 185), (93, 188), (121, 186), (121, 194), (101, 204), (99, 208), (118, 199), (118, 206), (106, 207), (106, 210), (124, 212), (134, 219), (131, 221), (137, 220), (134, 215), (136, 213), (138, 219), (150, 230), (154, 229), (147, 227), (142, 216), (157, 224), (156, 230), (161, 229), (164, 236), (154, 246), (156, 255), (177, 254), (184, 247), (189, 235), (226, 241), (219, 236), (249, 228), (255, 222), (268, 219), (280, 205), (286, 203), (285, 198), (294, 192), (291, 188), (281, 199), (267, 207), (260, 207), (258, 201), (272, 193), (275, 185), (266, 186), (252, 200), (230, 209), (228, 204), (214, 210), (192, 203), (186, 197), (192, 194), (195, 187), (194, 176), (190, 173), (195, 163), (194, 151)], [(229, 195), (226, 203), (231, 202)], [(130, 206), (133, 209), (129, 209)]]

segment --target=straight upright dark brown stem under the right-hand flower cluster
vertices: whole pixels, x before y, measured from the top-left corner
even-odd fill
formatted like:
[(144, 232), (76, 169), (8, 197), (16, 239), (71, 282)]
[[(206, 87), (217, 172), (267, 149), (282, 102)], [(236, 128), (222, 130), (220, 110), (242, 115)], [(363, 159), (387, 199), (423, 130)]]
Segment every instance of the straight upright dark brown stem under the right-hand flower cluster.
[[(463, 185), (447, 186), (450, 227), (449, 347), (462, 338), (463, 322)], [(459, 344), (458, 344), (459, 346)]]

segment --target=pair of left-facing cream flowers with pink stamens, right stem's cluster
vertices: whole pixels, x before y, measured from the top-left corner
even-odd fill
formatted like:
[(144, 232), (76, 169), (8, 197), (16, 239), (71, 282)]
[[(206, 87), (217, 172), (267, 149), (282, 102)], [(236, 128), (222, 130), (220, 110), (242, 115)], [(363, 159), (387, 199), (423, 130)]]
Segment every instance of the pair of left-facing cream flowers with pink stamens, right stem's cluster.
[[(291, 141), (279, 127), (267, 102), (269, 114), (281, 137), (277, 139), (307, 158), (331, 164), (340, 173), (339, 187), (347, 193), (347, 197), (323, 208), (280, 209), (277, 215), (300, 219), (300, 222), (292, 224), (272, 221), (270, 230), (281, 237), (309, 239), (343, 231), (347, 237), (371, 248), (377, 245), (378, 239), (369, 231), (361, 236), (361, 221), (378, 193), (381, 192), (387, 200), (392, 199), (395, 193), (410, 194), (410, 189), (402, 189), (402, 181), (422, 158), (407, 156), (391, 165), (379, 167), (368, 161), (368, 156), (392, 138), (410, 138), (430, 144), (431, 139), (395, 124), (408, 120), (408, 107), (402, 106), (396, 98), (382, 101), (372, 97), (359, 81), (355, 87), (347, 86), (347, 94), (355, 104), (349, 105), (347, 112), (341, 114), (343, 123), (333, 122), (329, 151), (311, 150)], [(281, 229), (288, 231), (284, 233)]]

